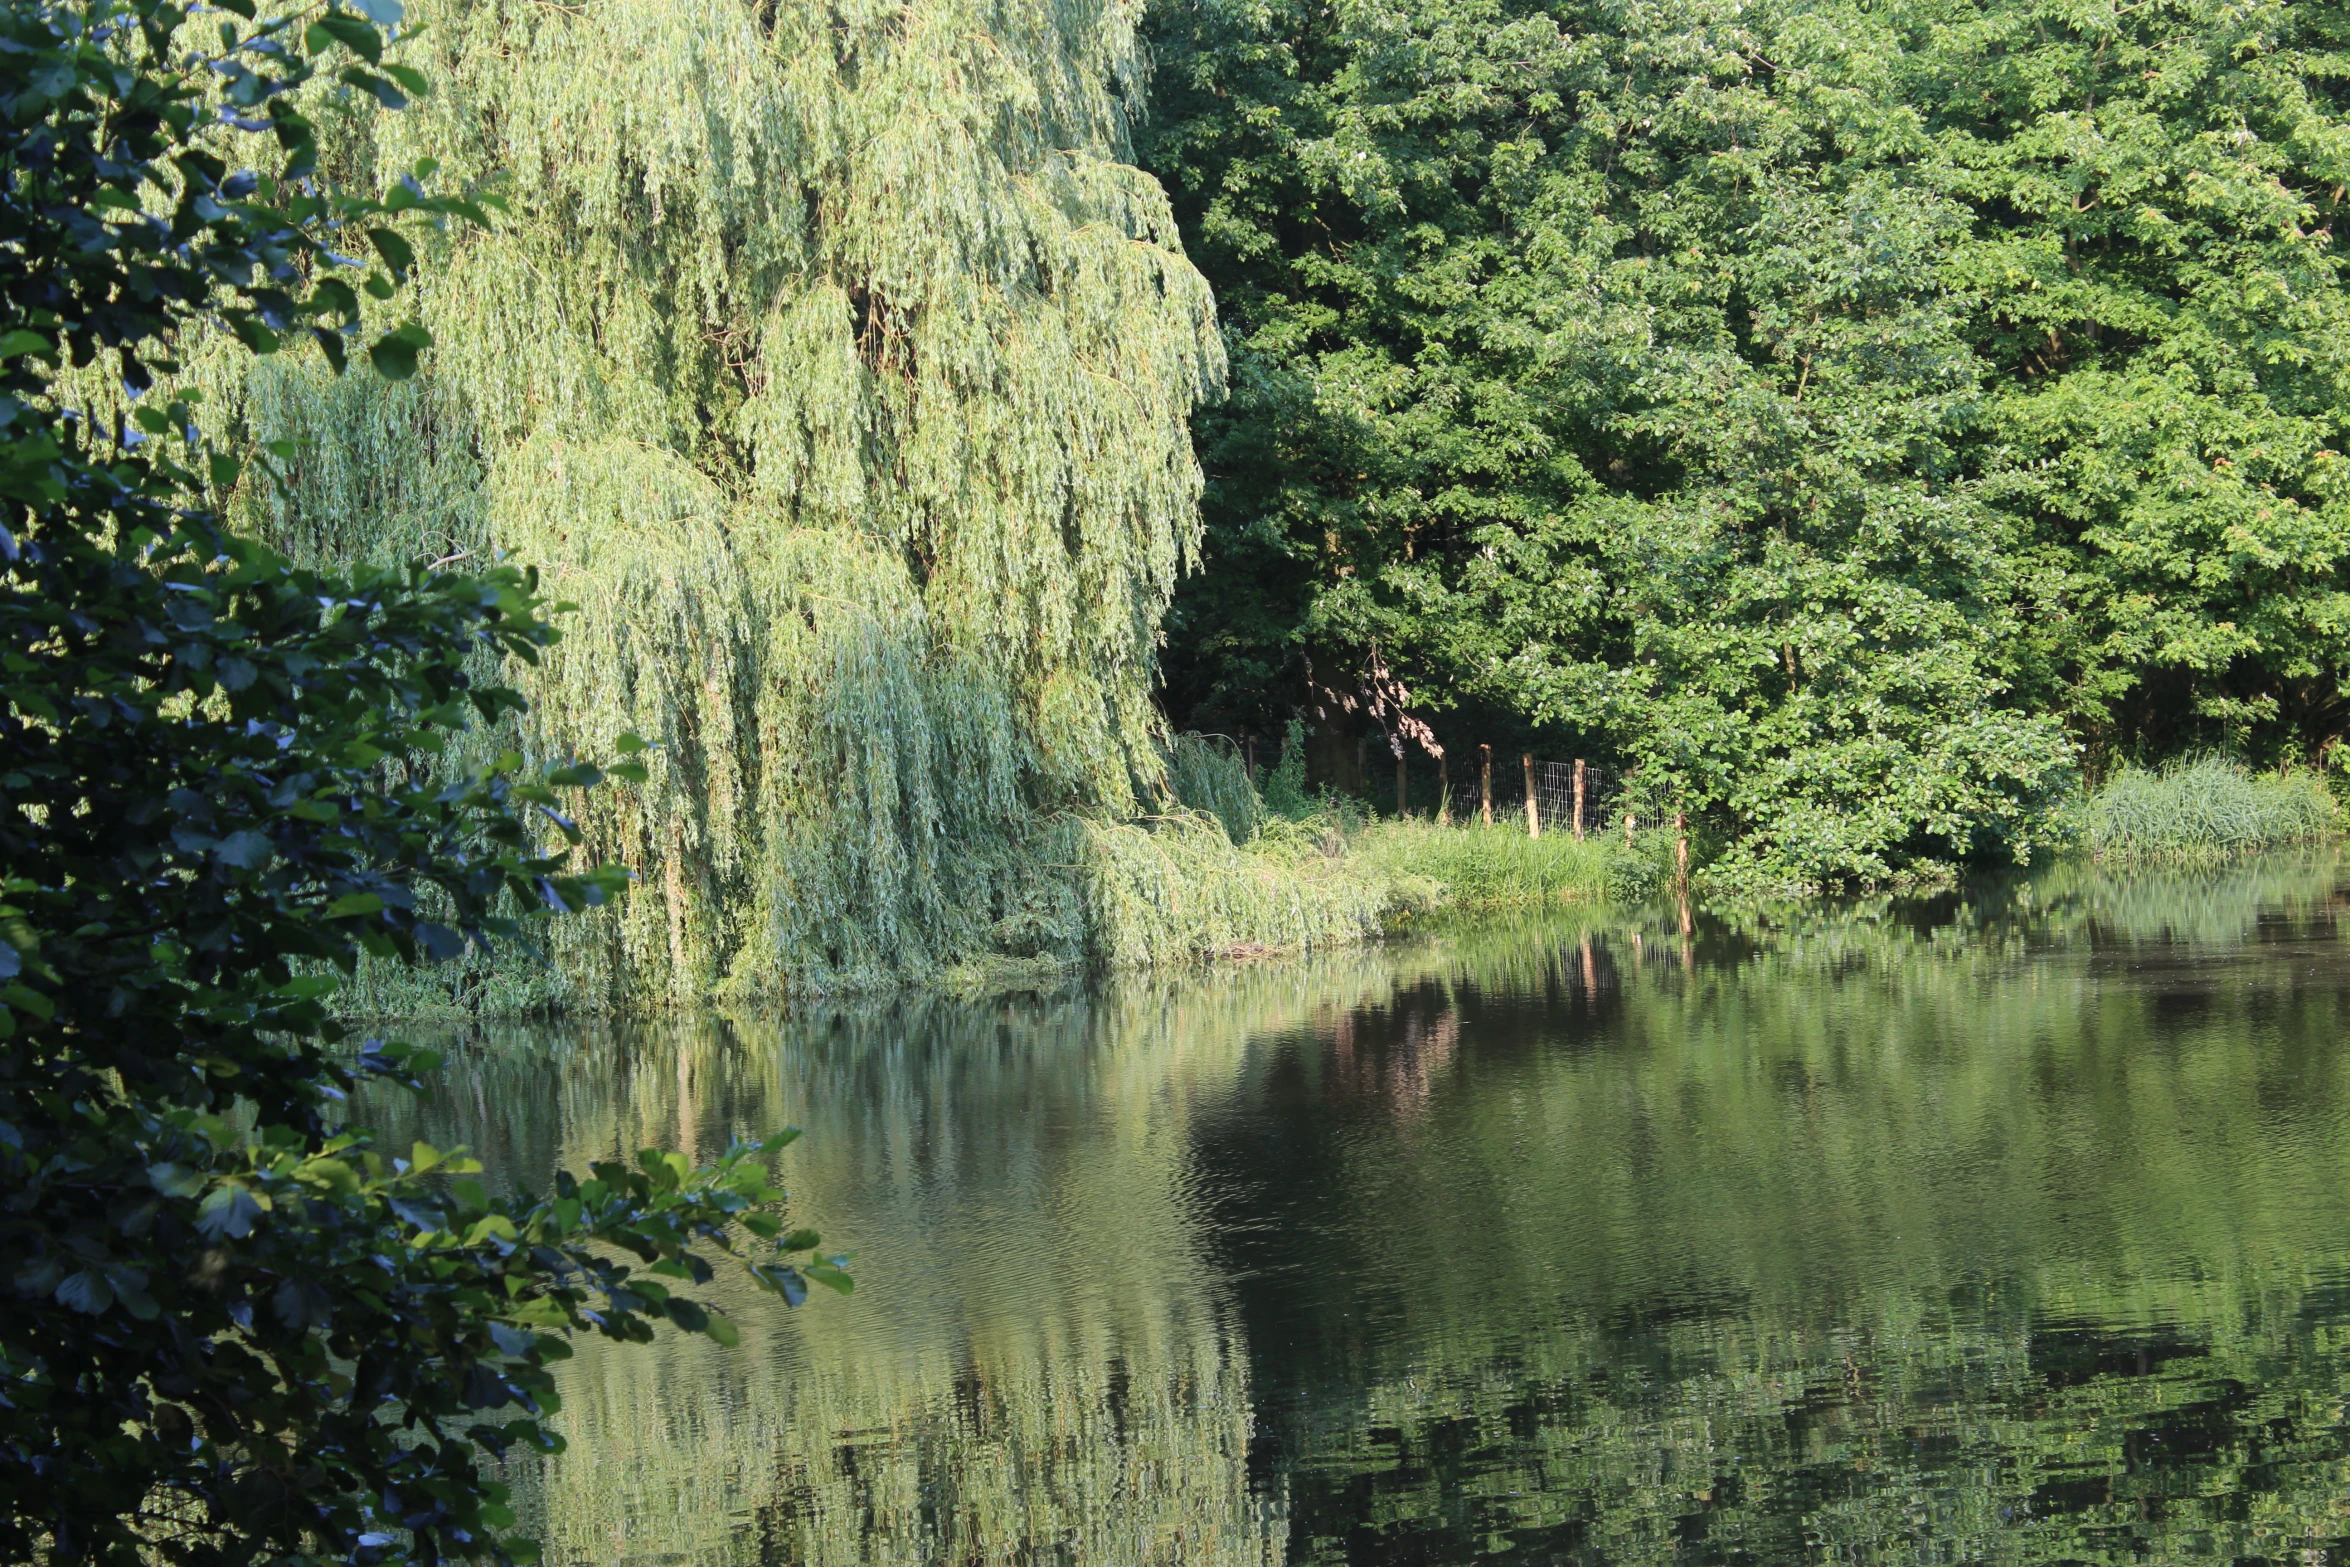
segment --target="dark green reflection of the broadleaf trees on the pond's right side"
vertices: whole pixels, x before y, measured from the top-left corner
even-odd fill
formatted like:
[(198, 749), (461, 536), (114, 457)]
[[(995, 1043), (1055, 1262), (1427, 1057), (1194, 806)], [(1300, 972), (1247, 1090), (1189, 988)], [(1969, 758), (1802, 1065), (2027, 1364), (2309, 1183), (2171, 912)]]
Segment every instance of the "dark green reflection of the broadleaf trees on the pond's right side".
[[(1368, 1327), (1311, 1269), (1241, 1287), (1292, 1555), (2350, 1532), (2345, 1001), (2228, 954), (2331, 937), (2331, 888), (2063, 872), (1711, 926), (1687, 968), (1654, 933), (1495, 933), (1264, 1062), (1328, 1107), (1264, 1231), (1417, 1273)], [(1278, 1266), (1238, 1240), (1243, 1278)]]

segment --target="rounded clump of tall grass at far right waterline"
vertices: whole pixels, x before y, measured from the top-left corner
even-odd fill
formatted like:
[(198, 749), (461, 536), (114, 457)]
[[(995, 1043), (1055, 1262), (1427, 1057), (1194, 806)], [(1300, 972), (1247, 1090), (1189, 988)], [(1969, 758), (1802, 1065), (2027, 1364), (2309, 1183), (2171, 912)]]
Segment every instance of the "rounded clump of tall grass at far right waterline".
[(2251, 773), (2223, 756), (2122, 768), (2089, 796), (2089, 848), (2115, 860), (2214, 860), (2310, 843), (2338, 811), (2315, 773)]

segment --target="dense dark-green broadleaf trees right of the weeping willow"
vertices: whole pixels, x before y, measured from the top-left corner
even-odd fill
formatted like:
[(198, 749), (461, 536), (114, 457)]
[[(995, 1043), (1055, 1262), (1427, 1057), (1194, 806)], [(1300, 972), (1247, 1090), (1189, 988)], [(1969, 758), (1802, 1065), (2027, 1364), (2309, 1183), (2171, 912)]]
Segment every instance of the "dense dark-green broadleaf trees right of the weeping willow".
[(1152, 26), (1234, 366), (1177, 712), (1617, 754), (1779, 883), (2021, 855), (2129, 756), (2329, 759), (2338, 7)]

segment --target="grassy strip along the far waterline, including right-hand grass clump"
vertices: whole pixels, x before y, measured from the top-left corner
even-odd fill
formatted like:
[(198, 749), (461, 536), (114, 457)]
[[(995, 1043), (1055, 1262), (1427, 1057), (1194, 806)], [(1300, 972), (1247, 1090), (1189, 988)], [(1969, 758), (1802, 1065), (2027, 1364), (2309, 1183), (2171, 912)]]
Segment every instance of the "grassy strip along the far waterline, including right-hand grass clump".
[[(1292, 768), (1295, 771), (1295, 768)], [(1640, 900), (1668, 886), (1673, 841), (1525, 836), (1516, 825), (1372, 820), (1361, 801), (1307, 799), (1295, 778), (1262, 792), (1229, 747), (1182, 742), (1161, 813), (1039, 820), (1008, 850), (964, 940), (924, 966), (830, 963), (776, 982), (738, 970), (707, 994), (768, 1003), (905, 984), (968, 991), (1062, 984), (1086, 973), (1337, 949), (1445, 909), (1492, 912)], [(2256, 775), (2202, 759), (2129, 768), (2077, 806), (2080, 841), (2106, 862), (2197, 862), (2329, 839), (2338, 813), (2317, 775)], [(783, 888), (780, 900), (822, 888)], [(592, 921), (580, 921), (592, 933)], [(785, 926), (766, 933), (783, 944)], [(752, 935), (745, 947), (759, 942)], [(592, 947), (592, 944), (590, 944)], [(508, 1017), (632, 1010), (576, 951), (465, 959), (430, 970), (362, 966), (345, 1010), (374, 1017)]]

